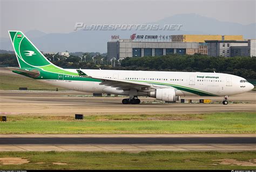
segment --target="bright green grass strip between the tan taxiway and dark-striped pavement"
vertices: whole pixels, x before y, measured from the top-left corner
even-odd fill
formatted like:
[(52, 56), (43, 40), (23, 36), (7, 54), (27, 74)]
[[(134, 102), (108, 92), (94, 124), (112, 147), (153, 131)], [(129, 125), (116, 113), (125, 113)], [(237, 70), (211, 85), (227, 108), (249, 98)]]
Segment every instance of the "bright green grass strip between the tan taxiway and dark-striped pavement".
[(8, 116), (1, 134), (23, 133), (256, 133), (256, 113), (194, 115)]

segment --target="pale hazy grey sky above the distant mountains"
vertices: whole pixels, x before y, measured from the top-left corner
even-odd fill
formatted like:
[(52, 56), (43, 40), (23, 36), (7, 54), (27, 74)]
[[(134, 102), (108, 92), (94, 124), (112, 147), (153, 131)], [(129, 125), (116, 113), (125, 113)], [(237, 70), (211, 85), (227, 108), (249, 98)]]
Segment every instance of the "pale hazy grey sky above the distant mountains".
[(0, 37), (8, 30), (72, 32), (86, 24), (144, 24), (180, 13), (197, 13), (224, 22), (255, 23), (255, 0), (0, 0)]

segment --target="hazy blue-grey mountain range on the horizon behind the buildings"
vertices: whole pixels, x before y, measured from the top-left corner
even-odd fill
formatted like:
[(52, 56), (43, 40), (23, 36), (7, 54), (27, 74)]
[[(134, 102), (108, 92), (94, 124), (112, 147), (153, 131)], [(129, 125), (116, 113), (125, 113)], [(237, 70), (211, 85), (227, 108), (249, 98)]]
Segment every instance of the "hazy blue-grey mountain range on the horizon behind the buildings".
[[(44, 33), (38, 30), (25, 34), (44, 52), (107, 52), (107, 42), (111, 35), (130, 38), (133, 33), (142, 35), (243, 35), (245, 39), (256, 38), (256, 23), (242, 25), (239, 23), (221, 22), (214, 18), (203, 17), (195, 13), (174, 15), (150, 24), (182, 24), (179, 31), (83, 31), (70, 33)], [(0, 49), (13, 50), (9, 38), (0, 39)]]

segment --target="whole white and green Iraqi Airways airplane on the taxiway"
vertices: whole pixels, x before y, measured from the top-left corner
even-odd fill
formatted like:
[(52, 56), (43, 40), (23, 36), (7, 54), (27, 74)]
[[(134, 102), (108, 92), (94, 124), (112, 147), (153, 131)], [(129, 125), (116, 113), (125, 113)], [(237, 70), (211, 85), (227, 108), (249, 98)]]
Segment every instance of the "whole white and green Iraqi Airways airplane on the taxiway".
[(70, 90), (127, 95), (123, 104), (139, 104), (138, 96), (173, 102), (185, 95), (228, 96), (254, 88), (246, 79), (225, 73), (67, 69), (52, 64), (21, 31), (9, 31), (19, 68), (12, 72)]

